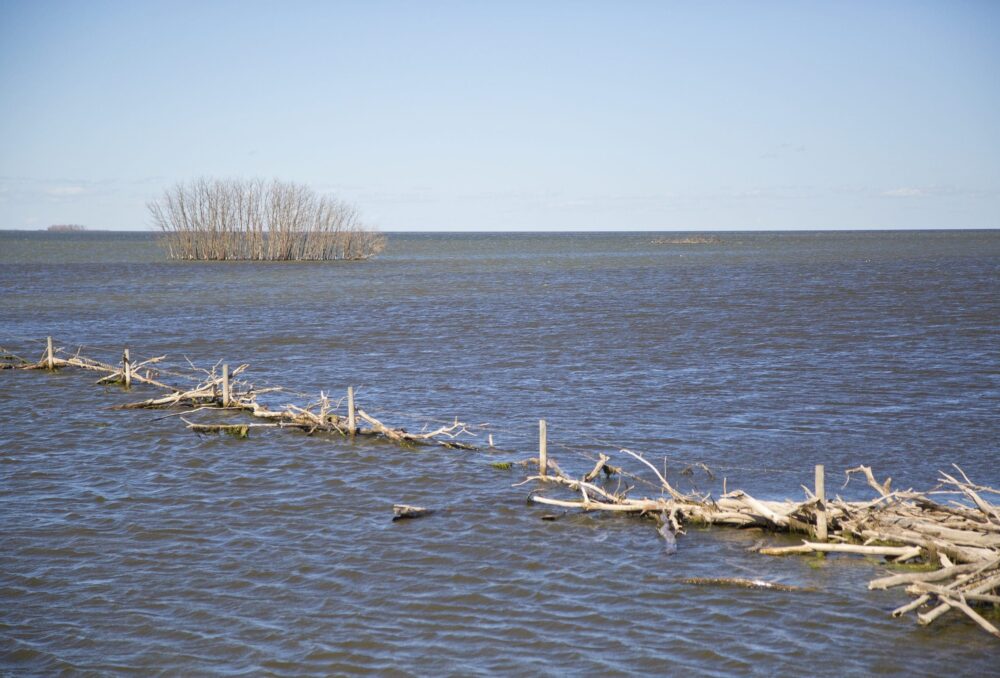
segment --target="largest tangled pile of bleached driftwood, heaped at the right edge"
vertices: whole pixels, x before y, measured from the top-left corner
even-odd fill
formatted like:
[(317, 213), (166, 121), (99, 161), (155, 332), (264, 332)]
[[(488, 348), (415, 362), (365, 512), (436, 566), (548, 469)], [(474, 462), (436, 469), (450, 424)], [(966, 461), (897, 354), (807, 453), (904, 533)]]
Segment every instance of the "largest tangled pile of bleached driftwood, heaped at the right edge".
[[(598, 484), (601, 469), (610, 457), (600, 455), (594, 470), (581, 478), (564, 473), (547, 458), (549, 472), (530, 476), (525, 482), (545, 487), (561, 487), (572, 498), (557, 498), (532, 493), (530, 501), (546, 506), (646, 515), (660, 524), (660, 532), (683, 534), (686, 523), (760, 526), (776, 532), (816, 534), (819, 512), (825, 511), (828, 541), (804, 540), (796, 546), (755, 548), (764, 555), (858, 554), (881, 556), (892, 563), (919, 560), (929, 571), (894, 574), (869, 584), (871, 589), (907, 586), (916, 598), (893, 611), (900, 616), (919, 609), (921, 624), (930, 624), (950, 610), (958, 610), (981, 628), (1000, 638), (996, 627), (979, 612), (980, 605), (1000, 604), (1000, 509), (985, 497), (1000, 494), (990, 487), (976, 485), (956, 467), (957, 473), (941, 473), (940, 488), (919, 493), (912, 490), (893, 492), (891, 481), (878, 482), (871, 468), (860, 466), (847, 471), (862, 474), (878, 494), (873, 501), (847, 502), (840, 498), (821, 501), (808, 489), (801, 502), (760, 500), (743, 491), (729, 492), (718, 499), (709, 495), (683, 494), (648, 459), (632, 452), (619, 454), (639, 462), (655, 477), (659, 497), (633, 498), (633, 488), (610, 489)], [(523, 483), (520, 483), (523, 484)], [(938, 497), (947, 497), (941, 503)], [(698, 583), (742, 582), (743, 580), (702, 580)], [(733, 585), (745, 585), (734, 583)]]

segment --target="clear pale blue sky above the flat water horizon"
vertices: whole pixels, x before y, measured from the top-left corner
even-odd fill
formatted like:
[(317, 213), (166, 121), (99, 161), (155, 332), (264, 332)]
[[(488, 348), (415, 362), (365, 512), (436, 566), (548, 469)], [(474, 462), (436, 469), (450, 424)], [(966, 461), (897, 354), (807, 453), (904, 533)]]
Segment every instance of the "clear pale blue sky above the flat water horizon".
[(1000, 2), (0, 0), (0, 228), (199, 176), (383, 230), (1000, 227)]

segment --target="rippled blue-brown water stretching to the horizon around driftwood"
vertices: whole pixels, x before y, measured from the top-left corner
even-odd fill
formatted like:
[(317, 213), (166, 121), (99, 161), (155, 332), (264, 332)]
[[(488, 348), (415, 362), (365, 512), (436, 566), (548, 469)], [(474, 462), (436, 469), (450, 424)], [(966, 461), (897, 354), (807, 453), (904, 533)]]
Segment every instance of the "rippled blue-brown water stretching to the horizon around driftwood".
[[(762, 498), (819, 463), (852, 497), (862, 463), (1000, 485), (1000, 233), (717, 235), (394, 234), (375, 261), (290, 264), (0, 233), (9, 350), (249, 363), (290, 388), (276, 404), (354, 385), (387, 423), (457, 416), (499, 448), (199, 437), (109, 409), (145, 388), (0, 372), (0, 672), (995, 675), (964, 617), (890, 618), (909, 598), (865, 589), (878, 559), (761, 556), (789, 538), (725, 528), (668, 553), (654, 522), (531, 505), (526, 470), (492, 465), (546, 419), (573, 473), (627, 447)], [(808, 590), (680, 581), (733, 576)]]

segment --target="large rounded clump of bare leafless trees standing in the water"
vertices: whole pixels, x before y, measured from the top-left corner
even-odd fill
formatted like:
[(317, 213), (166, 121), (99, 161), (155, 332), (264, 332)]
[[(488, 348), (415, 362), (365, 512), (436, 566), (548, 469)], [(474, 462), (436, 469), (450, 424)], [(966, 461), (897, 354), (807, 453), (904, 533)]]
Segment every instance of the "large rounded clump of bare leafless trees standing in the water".
[(172, 259), (368, 259), (385, 247), (353, 206), (301, 184), (198, 179), (148, 207)]

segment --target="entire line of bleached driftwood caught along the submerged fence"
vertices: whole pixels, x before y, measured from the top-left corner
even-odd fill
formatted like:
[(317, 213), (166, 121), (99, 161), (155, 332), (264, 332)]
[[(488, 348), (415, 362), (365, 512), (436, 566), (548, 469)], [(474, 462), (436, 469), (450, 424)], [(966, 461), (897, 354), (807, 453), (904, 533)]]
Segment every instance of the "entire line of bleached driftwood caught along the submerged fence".
[[(110, 365), (80, 355), (63, 357), (48, 343), (37, 362), (25, 360), (0, 348), (0, 367), (5, 369), (55, 370), (67, 367), (102, 373), (99, 383), (132, 383), (166, 391), (156, 397), (121, 405), (118, 409), (180, 408), (178, 414), (193, 414), (203, 410), (230, 411), (260, 419), (262, 422), (199, 423), (182, 417), (192, 431), (199, 434), (229, 433), (246, 437), (250, 429), (292, 428), (308, 434), (335, 433), (342, 436), (379, 437), (394, 443), (439, 445), (446, 448), (477, 449), (461, 436), (472, 436), (469, 427), (457, 419), (433, 430), (412, 433), (393, 428), (362, 409), (355, 409), (353, 390), (348, 393), (348, 412), (339, 410), (341, 403), (331, 406), (329, 397), (321, 392), (316, 402), (305, 407), (285, 405), (271, 409), (258, 401), (261, 395), (282, 391), (278, 387), (256, 388), (242, 375), (248, 365), (240, 365), (231, 373), (217, 364), (211, 370), (201, 370), (193, 386), (170, 385), (163, 380), (171, 374), (160, 363), (163, 356), (131, 364), (127, 351), (121, 365)], [(167, 415), (174, 416), (174, 415)], [(359, 425), (358, 421), (363, 422)], [(544, 433), (544, 426), (541, 432)], [(544, 438), (540, 441), (544, 443)], [(492, 447), (492, 439), (490, 439)], [(973, 483), (955, 467), (955, 473), (942, 472), (939, 486), (929, 492), (893, 491), (891, 482), (878, 482), (870, 467), (859, 466), (847, 471), (848, 481), (855, 473), (862, 474), (876, 493), (870, 501), (847, 502), (839, 497), (827, 501), (821, 489), (817, 469), (817, 490), (806, 488), (804, 501), (768, 501), (736, 490), (723, 491), (718, 498), (710, 494), (683, 493), (649, 459), (628, 449), (620, 449), (623, 462), (640, 465), (640, 472), (652, 473), (653, 479), (642, 478), (624, 466), (609, 463), (609, 455), (600, 455), (594, 467), (580, 478), (565, 473), (540, 445), (539, 458), (519, 465), (538, 467), (538, 474), (524, 482), (536, 482), (540, 489), (562, 488), (569, 497), (550, 497), (532, 492), (529, 500), (547, 506), (583, 511), (627, 513), (654, 518), (660, 534), (676, 548), (674, 536), (684, 534), (687, 524), (728, 525), (732, 527), (762, 527), (775, 532), (801, 532), (816, 537), (796, 546), (764, 547), (765, 555), (807, 553), (854, 553), (882, 556), (894, 563), (920, 560), (930, 568), (923, 572), (893, 574), (873, 580), (872, 589), (906, 586), (915, 596), (910, 603), (893, 611), (894, 616), (918, 612), (921, 624), (930, 624), (952, 610), (958, 610), (981, 628), (1000, 638), (996, 627), (977, 608), (1000, 604), (1000, 508), (990, 501), (997, 490)], [(711, 471), (697, 465), (707, 474)], [(510, 464), (507, 465), (507, 468)], [(693, 468), (689, 465), (685, 470)], [(684, 473), (682, 471), (682, 473)], [(632, 497), (635, 485), (622, 486), (635, 480), (651, 486), (659, 496)], [(522, 483), (523, 484), (523, 483)], [(725, 481), (723, 482), (725, 488)], [(397, 518), (426, 515), (427, 509), (397, 505)], [(828, 532), (824, 540), (826, 525)], [(712, 580), (705, 580), (709, 582)], [(715, 583), (721, 582), (718, 580)], [(730, 581), (730, 580), (726, 580)], [(731, 580), (733, 582), (740, 580)], [(733, 584), (741, 585), (741, 584)]]

